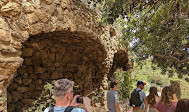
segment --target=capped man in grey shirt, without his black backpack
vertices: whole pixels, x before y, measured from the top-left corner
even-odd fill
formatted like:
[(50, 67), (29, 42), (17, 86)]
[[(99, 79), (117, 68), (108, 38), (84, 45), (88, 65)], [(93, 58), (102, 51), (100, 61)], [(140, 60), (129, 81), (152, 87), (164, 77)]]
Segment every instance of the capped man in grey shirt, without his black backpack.
[(135, 90), (139, 91), (140, 100), (142, 103), (141, 103), (140, 107), (133, 107), (133, 112), (144, 112), (145, 111), (144, 99), (146, 98), (146, 94), (142, 91), (144, 89), (144, 85), (146, 85), (146, 83), (144, 83), (143, 81), (137, 82), (137, 88)]

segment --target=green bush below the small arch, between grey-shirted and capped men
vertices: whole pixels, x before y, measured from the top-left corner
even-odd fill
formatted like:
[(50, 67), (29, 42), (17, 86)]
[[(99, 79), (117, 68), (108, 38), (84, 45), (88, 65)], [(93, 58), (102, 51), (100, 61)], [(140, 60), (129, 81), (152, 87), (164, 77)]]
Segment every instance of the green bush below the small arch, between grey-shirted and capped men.
[(130, 74), (130, 71), (123, 71), (121, 74), (119, 72), (116, 72), (116, 80), (119, 83), (118, 94), (120, 100), (129, 98), (132, 89), (132, 80)]

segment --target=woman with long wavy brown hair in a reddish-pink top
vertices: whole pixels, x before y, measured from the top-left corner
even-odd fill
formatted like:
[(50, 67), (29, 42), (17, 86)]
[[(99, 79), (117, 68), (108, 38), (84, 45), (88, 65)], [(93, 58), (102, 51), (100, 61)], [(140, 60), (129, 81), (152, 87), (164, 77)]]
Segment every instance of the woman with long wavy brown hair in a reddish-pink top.
[(162, 90), (160, 101), (156, 104), (156, 108), (159, 112), (174, 112), (177, 102), (174, 89), (170, 86), (165, 86)]

